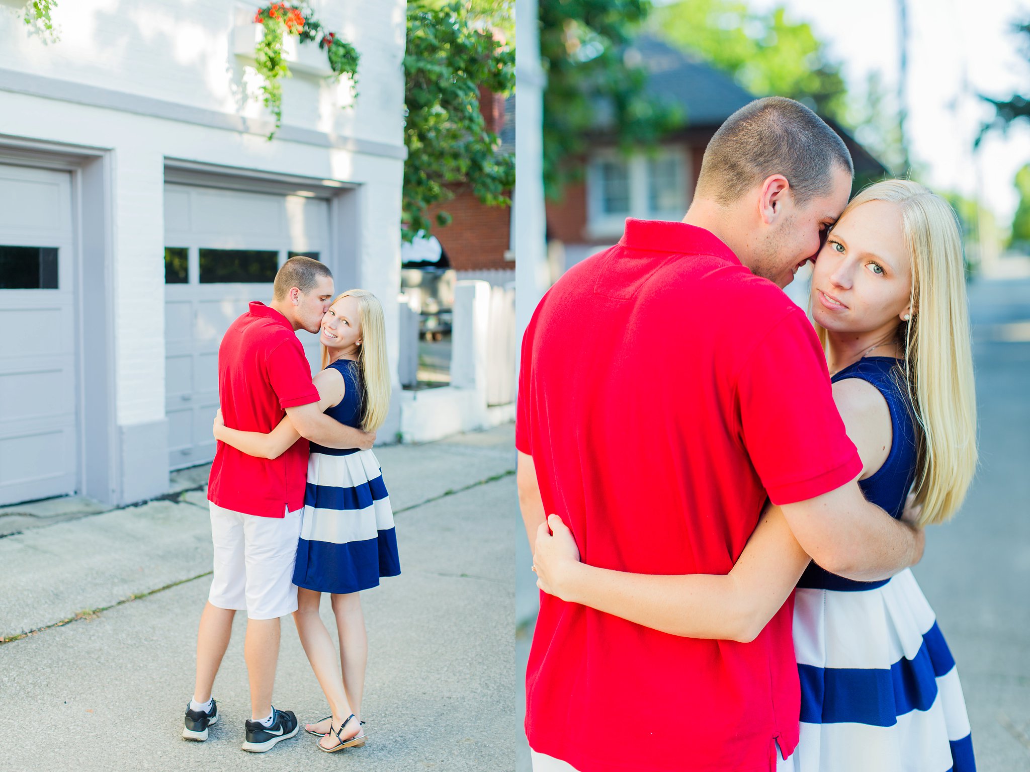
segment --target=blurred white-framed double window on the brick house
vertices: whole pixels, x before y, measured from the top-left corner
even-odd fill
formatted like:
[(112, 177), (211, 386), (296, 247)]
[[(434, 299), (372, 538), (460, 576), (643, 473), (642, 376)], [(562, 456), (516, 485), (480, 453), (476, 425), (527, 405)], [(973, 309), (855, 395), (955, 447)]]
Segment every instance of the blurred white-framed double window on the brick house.
[(587, 167), (587, 233), (622, 234), (626, 217), (679, 220), (689, 203), (687, 148), (662, 147), (628, 157), (602, 150)]

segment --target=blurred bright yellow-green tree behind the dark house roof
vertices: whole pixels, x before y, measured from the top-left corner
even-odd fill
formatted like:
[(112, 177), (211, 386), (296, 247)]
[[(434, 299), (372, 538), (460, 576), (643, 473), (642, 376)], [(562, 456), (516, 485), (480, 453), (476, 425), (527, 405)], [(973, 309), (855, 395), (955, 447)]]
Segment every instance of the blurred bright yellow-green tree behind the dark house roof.
[(809, 24), (791, 21), (782, 6), (756, 11), (739, 0), (681, 0), (657, 9), (650, 26), (752, 94), (790, 97), (849, 122), (839, 63)]

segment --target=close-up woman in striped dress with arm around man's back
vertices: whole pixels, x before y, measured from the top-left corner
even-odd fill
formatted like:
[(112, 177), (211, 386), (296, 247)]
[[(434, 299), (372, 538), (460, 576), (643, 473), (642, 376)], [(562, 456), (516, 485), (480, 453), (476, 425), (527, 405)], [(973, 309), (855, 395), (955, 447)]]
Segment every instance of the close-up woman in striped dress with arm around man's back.
[[(816, 261), (812, 315), (866, 497), (919, 525), (950, 518), (976, 448), (962, 242), (948, 204), (907, 180), (856, 196)], [(534, 557), (543, 590), (676, 635), (751, 641), (796, 586), (800, 740), (789, 758), (781, 749), (780, 772), (975, 769), (955, 662), (911, 570), (861, 583), (808, 565), (771, 505), (725, 576), (585, 566), (560, 518), (548, 524)]]

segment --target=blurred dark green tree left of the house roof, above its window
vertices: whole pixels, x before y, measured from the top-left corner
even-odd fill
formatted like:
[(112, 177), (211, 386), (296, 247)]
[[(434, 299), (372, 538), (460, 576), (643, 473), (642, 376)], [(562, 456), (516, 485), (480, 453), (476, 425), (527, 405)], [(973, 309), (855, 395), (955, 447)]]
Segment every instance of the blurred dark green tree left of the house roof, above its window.
[(565, 163), (602, 129), (620, 147), (653, 144), (682, 121), (680, 111), (645, 90), (647, 70), (626, 56), (650, 11), (647, 0), (540, 0), (544, 92), (544, 184), (557, 198), (581, 174)]

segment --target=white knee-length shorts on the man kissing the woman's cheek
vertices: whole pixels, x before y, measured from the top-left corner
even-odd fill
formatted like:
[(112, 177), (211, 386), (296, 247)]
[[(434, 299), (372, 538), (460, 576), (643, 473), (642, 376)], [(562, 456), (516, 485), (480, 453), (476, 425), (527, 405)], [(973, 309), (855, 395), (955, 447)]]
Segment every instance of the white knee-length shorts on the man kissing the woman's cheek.
[(211, 605), (245, 610), (252, 620), (296, 611), (294, 563), (301, 511), (262, 518), (208, 504), (214, 542), (214, 576), (207, 597)]

